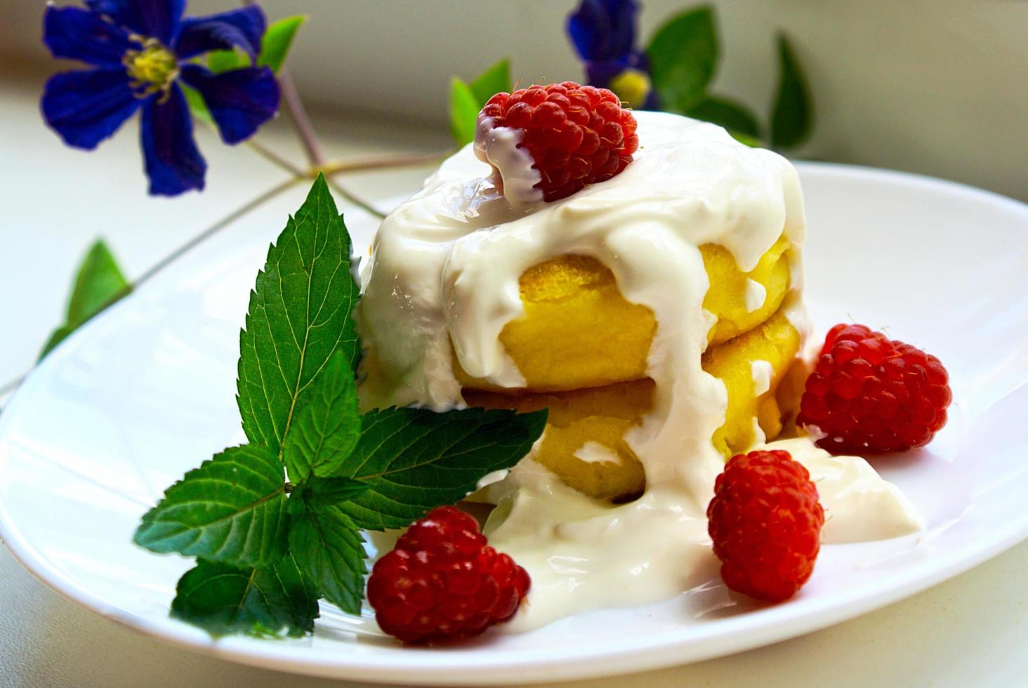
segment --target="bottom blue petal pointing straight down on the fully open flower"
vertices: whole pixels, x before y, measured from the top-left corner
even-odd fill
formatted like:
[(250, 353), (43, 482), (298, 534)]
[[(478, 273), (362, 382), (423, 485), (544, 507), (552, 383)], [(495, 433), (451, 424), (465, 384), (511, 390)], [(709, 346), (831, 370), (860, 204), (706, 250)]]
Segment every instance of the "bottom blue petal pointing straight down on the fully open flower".
[(178, 195), (204, 188), (207, 161), (196, 149), (189, 106), (178, 84), (166, 102), (154, 96), (143, 105), (140, 142), (151, 194)]

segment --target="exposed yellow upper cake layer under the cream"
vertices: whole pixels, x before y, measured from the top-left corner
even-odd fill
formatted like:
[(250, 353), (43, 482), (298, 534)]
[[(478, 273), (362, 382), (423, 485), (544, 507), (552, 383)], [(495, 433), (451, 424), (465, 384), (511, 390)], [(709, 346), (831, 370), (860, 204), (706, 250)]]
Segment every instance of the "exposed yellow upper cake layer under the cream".
[[(749, 273), (739, 270), (723, 247), (700, 247), (710, 282), (703, 305), (718, 318), (708, 333), (711, 343), (752, 329), (778, 309), (788, 291), (787, 246), (779, 239)], [(524, 315), (504, 327), (500, 340), (524, 387), (558, 392), (647, 376), (657, 321), (650, 309), (621, 295), (614, 274), (598, 260), (547, 260), (525, 270), (519, 288)], [(497, 389), (468, 375), (455, 358), (453, 364), (462, 386)]]

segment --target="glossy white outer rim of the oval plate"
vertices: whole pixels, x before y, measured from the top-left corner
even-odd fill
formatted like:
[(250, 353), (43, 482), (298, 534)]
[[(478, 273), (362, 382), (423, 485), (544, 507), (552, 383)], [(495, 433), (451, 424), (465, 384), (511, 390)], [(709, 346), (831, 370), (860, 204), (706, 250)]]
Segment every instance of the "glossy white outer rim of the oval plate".
[[(938, 179), (895, 170), (854, 166), (839, 162), (796, 161), (797, 168), (831, 177), (855, 177), (875, 181), (898, 182), (931, 190), (943, 190), (980, 202), (998, 204), (1007, 210), (1024, 213), (1028, 217), (1028, 204), (993, 191), (979, 189), (959, 182)], [(348, 208), (347, 208), (348, 210)], [(157, 281), (155, 281), (157, 282)], [(153, 284), (153, 283), (151, 283)], [(159, 282), (157, 282), (159, 284)], [(83, 332), (91, 331), (100, 320), (117, 313), (123, 303), (137, 298), (135, 292), (116, 304), (101, 318), (94, 319), (74, 332), (34, 368), (0, 413), (0, 438), (36, 385), (42, 385), (46, 371), (60, 360), (70, 356), (75, 342)], [(0, 475), (0, 480), (4, 480)], [(914, 536), (917, 537), (917, 534)], [(663, 633), (666, 640), (654, 642), (653, 635), (619, 641), (617, 647), (598, 646), (574, 657), (560, 656), (555, 651), (541, 656), (538, 649), (516, 649), (497, 654), (483, 652), (482, 648), (451, 651), (398, 648), (400, 652), (363, 654), (333, 654), (324, 651), (307, 652), (296, 656), (296, 646), (247, 638), (212, 639), (205, 631), (164, 617), (154, 619), (112, 606), (88, 589), (69, 580), (56, 569), (41, 552), (25, 538), (21, 529), (0, 502), (0, 542), (6, 545), (14, 558), (44, 585), (62, 598), (103, 618), (110, 619), (150, 638), (156, 638), (184, 649), (209, 654), (222, 659), (310, 676), (346, 678), (372, 682), (417, 682), (423, 684), (472, 684), (487, 681), (492, 684), (524, 681), (559, 681), (618, 676), (632, 672), (657, 669), (711, 659), (736, 652), (769, 645), (834, 625), (865, 613), (885, 607), (907, 596), (932, 587), (953, 576), (963, 573), (983, 562), (1028, 539), (1028, 513), (1020, 519), (1005, 523), (994, 532), (994, 537), (976, 542), (974, 548), (964, 547), (961, 553), (934, 555), (917, 566), (897, 574), (889, 585), (856, 586), (848, 593), (830, 599), (805, 600), (802, 595), (794, 602), (762, 608), (755, 612), (710, 620), (704, 625), (701, 638), (691, 638), (699, 624), (685, 625), (681, 631)], [(968, 550), (970, 553), (968, 554)], [(877, 591), (869, 591), (868, 587)], [(743, 626), (737, 628), (737, 626)], [(397, 661), (409, 656), (411, 661)], [(476, 660), (475, 655), (481, 655)], [(529, 661), (530, 655), (530, 661)], [(517, 669), (516, 674), (505, 669)], [(483, 673), (488, 673), (486, 676)]]

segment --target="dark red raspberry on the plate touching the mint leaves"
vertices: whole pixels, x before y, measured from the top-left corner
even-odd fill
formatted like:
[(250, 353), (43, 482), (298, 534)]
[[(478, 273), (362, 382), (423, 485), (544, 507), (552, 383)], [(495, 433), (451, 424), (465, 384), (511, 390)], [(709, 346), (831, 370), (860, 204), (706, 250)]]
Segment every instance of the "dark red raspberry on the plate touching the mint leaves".
[(529, 584), (524, 569), (485, 544), (474, 518), (444, 506), (411, 524), (375, 563), (368, 602), (382, 630), (425, 644), (507, 621)]

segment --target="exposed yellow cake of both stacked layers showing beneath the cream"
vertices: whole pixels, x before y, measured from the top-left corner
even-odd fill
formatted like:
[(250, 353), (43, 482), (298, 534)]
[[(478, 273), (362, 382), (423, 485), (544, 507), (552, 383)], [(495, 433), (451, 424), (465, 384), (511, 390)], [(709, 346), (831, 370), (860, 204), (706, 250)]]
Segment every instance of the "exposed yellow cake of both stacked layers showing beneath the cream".
[[(751, 446), (758, 434), (773, 439), (781, 430), (775, 392), (800, 347), (799, 332), (780, 312), (790, 288), (788, 246), (780, 238), (749, 273), (740, 271), (724, 247), (699, 247), (711, 285), (703, 307), (717, 318), (702, 366), (728, 392), (725, 424), (712, 437), (726, 459)], [(471, 378), (454, 357), (465, 399), (487, 408), (548, 407), (536, 461), (592, 497), (641, 493), (645, 471), (624, 436), (653, 407), (653, 312), (628, 302), (614, 274), (588, 256), (547, 260), (518, 283), (524, 316), (504, 327), (500, 341), (525, 388)]]

